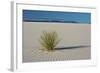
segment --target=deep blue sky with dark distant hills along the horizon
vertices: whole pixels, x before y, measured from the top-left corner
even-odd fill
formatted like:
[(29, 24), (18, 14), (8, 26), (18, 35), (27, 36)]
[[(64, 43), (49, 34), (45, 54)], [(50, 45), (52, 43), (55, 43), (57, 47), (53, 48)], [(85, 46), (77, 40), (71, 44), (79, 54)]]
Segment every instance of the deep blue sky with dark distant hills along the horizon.
[(23, 10), (23, 21), (91, 24), (91, 13)]

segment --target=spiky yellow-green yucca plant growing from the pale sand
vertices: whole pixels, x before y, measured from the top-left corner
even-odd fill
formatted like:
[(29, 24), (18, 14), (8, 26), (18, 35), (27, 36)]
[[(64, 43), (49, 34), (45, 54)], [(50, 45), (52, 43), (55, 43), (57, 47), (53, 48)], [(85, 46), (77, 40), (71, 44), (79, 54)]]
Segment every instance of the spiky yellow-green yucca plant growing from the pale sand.
[(60, 39), (58, 38), (58, 34), (55, 31), (53, 32), (43, 31), (43, 33), (40, 36), (40, 44), (47, 51), (54, 51), (56, 45), (59, 42), (60, 42)]

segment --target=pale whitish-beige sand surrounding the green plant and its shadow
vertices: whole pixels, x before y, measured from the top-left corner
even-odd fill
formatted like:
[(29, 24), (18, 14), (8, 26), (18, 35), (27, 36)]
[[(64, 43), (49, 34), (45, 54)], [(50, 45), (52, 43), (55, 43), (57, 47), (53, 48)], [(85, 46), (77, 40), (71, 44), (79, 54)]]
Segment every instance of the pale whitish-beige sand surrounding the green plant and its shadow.
[(23, 22), (23, 62), (81, 60), (91, 58), (90, 47), (47, 52), (40, 50), (42, 31), (56, 31), (62, 39), (57, 47), (90, 46), (91, 25)]

